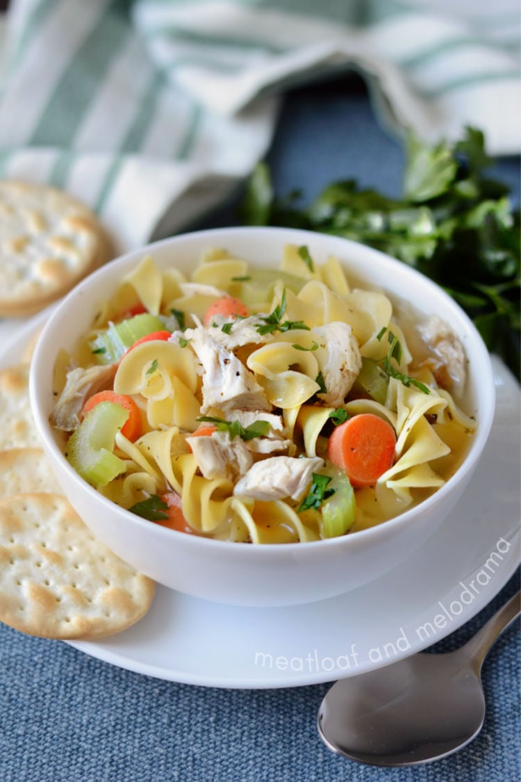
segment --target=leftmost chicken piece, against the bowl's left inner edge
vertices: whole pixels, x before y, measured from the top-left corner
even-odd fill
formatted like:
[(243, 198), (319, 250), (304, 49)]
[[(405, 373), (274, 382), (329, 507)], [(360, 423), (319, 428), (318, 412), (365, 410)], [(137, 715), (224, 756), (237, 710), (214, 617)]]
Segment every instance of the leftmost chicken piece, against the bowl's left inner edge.
[(116, 364), (71, 369), (67, 372), (66, 384), (51, 414), (55, 429), (73, 432), (80, 425), (80, 412), (85, 402), (98, 391), (112, 388), (116, 375)]

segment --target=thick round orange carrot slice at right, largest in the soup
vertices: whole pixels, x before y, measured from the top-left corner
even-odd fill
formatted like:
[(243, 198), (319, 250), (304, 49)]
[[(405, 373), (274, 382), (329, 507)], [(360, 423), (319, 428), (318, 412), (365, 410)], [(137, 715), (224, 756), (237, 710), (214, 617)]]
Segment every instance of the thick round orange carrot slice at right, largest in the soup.
[(328, 443), (328, 458), (348, 474), (351, 486), (373, 486), (393, 464), (396, 435), (391, 424), (373, 413), (361, 413), (337, 426)]

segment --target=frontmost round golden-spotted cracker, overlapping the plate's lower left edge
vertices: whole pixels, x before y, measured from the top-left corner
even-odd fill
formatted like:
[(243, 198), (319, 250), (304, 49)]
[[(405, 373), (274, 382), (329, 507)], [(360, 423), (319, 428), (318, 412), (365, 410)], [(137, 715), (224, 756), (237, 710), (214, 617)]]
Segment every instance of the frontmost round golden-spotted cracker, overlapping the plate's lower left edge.
[(0, 621), (30, 635), (94, 640), (148, 612), (155, 583), (112, 554), (59, 494), (0, 501)]

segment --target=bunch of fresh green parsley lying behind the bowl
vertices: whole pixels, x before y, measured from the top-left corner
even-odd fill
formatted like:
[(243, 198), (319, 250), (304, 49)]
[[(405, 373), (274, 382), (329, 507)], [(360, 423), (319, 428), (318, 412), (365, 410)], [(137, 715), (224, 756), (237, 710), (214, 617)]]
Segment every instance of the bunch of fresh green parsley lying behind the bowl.
[(277, 199), (260, 163), (242, 219), (355, 239), (415, 267), (459, 302), (488, 349), (519, 376), (519, 210), (512, 210), (508, 188), (487, 178), (491, 163), (475, 128), (454, 144), (428, 146), (409, 135), (401, 199), (347, 180), (306, 207), (298, 206), (299, 194)]

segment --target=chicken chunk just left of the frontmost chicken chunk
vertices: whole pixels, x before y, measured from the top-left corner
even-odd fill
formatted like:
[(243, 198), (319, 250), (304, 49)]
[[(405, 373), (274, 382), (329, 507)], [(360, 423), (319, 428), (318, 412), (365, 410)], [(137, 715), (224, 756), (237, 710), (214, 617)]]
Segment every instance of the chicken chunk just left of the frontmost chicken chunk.
[(240, 437), (230, 439), (229, 432), (187, 437), (198, 468), (205, 478), (236, 479), (248, 472), (253, 457)]

